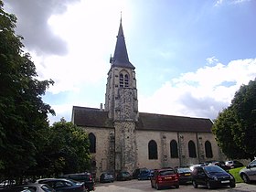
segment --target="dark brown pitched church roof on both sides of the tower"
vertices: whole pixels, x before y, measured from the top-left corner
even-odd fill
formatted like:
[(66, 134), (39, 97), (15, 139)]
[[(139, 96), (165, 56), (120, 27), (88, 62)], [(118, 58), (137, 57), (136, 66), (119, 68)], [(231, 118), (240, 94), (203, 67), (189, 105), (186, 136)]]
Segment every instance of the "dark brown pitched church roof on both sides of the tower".
[[(114, 128), (112, 119), (108, 118), (108, 112), (96, 108), (73, 106), (72, 120), (78, 126)], [(209, 119), (204, 118), (140, 112), (136, 129), (142, 131), (210, 133), (212, 124)]]

